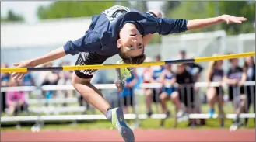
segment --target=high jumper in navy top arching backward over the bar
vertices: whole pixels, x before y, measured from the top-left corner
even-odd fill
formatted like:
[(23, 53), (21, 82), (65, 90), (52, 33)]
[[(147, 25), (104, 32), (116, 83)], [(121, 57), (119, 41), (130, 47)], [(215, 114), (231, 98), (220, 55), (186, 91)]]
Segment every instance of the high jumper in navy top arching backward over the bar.
[[(216, 23), (242, 23), (247, 19), (230, 15), (208, 19), (168, 19), (160, 12), (139, 12), (136, 9), (114, 5), (99, 15), (93, 16), (89, 29), (78, 40), (68, 41), (62, 47), (30, 60), (14, 64), (16, 67), (36, 67), (49, 61), (57, 60), (68, 54), (79, 54), (75, 65), (103, 64), (107, 58), (119, 54), (126, 64), (142, 64), (146, 55), (146, 44), (154, 33), (169, 35), (191, 29), (202, 29)], [(65, 29), (64, 29), (65, 30)], [(82, 29), (83, 30), (83, 29)], [(68, 34), (68, 33), (67, 33)], [(123, 69), (125, 70), (125, 68)], [(112, 125), (121, 133), (125, 141), (134, 141), (132, 130), (124, 122), (120, 108), (111, 108), (97, 88), (90, 84), (96, 70), (74, 71), (72, 85), (87, 101), (105, 114)], [(126, 73), (121, 74), (122, 83)], [(13, 78), (23, 78), (24, 73), (14, 73)], [(117, 88), (122, 85), (117, 84)]]

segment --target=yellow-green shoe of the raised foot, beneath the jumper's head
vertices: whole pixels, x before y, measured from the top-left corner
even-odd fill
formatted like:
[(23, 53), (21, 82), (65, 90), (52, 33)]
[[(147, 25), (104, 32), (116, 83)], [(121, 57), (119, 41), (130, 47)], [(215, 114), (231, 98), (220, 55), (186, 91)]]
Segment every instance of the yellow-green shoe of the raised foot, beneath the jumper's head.
[[(117, 61), (117, 64), (125, 64), (124, 61)], [(120, 92), (124, 90), (125, 81), (127, 78), (131, 78), (132, 68), (116, 68), (118, 81), (116, 81), (117, 88)]]

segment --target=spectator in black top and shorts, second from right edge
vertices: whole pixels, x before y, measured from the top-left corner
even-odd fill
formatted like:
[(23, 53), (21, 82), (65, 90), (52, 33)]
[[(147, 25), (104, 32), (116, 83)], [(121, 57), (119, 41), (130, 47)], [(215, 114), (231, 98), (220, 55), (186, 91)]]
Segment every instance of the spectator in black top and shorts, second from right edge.
[(244, 81), (246, 73), (238, 66), (238, 59), (230, 59), (230, 68), (226, 74), (225, 81), (229, 86), (229, 99), (233, 101), (236, 118), (233, 119), (234, 126), (241, 126), (240, 113), (244, 111), (246, 95), (244, 94)]

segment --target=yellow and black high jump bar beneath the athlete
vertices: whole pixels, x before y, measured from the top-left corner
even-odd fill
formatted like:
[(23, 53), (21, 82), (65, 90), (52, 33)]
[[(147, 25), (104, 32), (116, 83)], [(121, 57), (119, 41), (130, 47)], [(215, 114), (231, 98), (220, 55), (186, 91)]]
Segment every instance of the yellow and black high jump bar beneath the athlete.
[(95, 64), (95, 65), (43, 67), (43, 68), (1, 68), (1, 72), (12, 73), (12, 72), (30, 72), (30, 71), (75, 71), (75, 70), (93, 70), (93, 69), (110, 69), (110, 68), (136, 68), (136, 67), (148, 67), (148, 66), (165, 65), (165, 64), (184, 64), (184, 63), (199, 63), (199, 62), (206, 62), (206, 61), (221, 61), (226, 59), (251, 57), (251, 56), (255, 56), (255, 52), (219, 55), (219, 56), (212, 56), (212, 57), (195, 57), (193, 59), (184, 59), (184, 60), (144, 62), (142, 64)]

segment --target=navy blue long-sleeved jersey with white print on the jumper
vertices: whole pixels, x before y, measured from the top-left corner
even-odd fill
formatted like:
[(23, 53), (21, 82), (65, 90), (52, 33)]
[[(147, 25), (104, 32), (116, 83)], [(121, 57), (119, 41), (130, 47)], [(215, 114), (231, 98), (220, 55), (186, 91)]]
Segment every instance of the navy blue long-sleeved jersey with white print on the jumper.
[(75, 55), (79, 52), (96, 52), (105, 57), (114, 56), (118, 54), (117, 40), (125, 23), (135, 24), (142, 36), (149, 33), (167, 35), (188, 30), (185, 19), (156, 18), (149, 13), (116, 5), (93, 16), (85, 35), (64, 45), (65, 53)]

